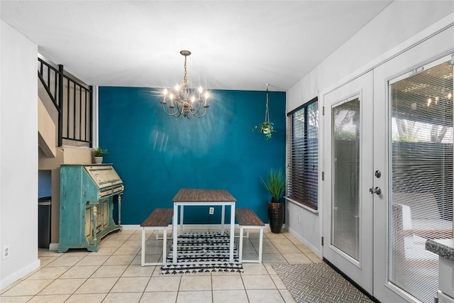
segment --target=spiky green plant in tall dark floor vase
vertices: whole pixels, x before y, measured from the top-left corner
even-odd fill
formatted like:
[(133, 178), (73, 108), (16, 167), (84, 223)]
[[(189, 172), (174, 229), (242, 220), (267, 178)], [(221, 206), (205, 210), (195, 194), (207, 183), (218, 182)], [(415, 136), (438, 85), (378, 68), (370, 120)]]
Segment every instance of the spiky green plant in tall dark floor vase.
[(272, 233), (280, 233), (284, 223), (284, 205), (280, 198), (285, 191), (284, 174), (281, 169), (270, 169), (266, 178), (260, 177), (263, 186), (271, 195), (268, 202), (268, 222)]

